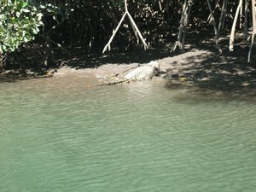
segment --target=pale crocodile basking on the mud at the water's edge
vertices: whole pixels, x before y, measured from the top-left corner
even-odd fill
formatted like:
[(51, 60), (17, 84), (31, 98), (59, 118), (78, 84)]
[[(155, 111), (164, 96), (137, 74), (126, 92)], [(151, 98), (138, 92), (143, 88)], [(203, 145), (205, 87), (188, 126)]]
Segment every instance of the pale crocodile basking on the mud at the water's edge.
[[(160, 64), (158, 61), (150, 61), (147, 64), (139, 65), (131, 69), (132, 69), (131, 72), (127, 73), (124, 79), (119, 79), (113, 82), (106, 82), (106, 83), (97, 84), (97, 85), (112, 85), (112, 84), (130, 83), (132, 81), (149, 80), (159, 73)], [(125, 72), (127, 71), (130, 71), (130, 70), (126, 70)], [(114, 75), (114, 76), (117, 76), (117, 75)]]

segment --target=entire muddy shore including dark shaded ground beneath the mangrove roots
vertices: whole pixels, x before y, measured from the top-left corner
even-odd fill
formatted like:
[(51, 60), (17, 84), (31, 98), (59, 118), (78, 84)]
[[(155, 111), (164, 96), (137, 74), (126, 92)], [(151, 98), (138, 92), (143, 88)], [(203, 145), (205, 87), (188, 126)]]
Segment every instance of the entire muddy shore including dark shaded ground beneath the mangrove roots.
[[(185, 52), (177, 51), (175, 53), (170, 53), (169, 50), (149, 49), (129, 54), (113, 52), (112, 55), (91, 57), (83, 54), (74, 55), (68, 60), (61, 59), (60, 67), (49, 69), (44, 75), (29, 75), (26, 78), (21, 77), (21, 79), (45, 77), (71, 79), (79, 77), (86, 84), (102, 84), (102, 82), (116, 80), (111, 76), (136, 67), (138, 64), (159, 61), (160, 69), (165, 73), (161, 73), (155, 79), (166, 79), (167, 86), (170, 87), (180, 84), (193, 84), (212, 91), (256, 89), (255, 50), (252, 54), (252, 62), (247, 63), (248, 47), (243, 47), (242, 44), (231, 53), (227, 48), (224, 48), (223, 55), (218, 55), (214, 44), (208, 45), (188, 45)], [(19, 72), (10, 70), (10, 72), (0, 74), (0, 81), (15, 79), (12, 75), (9, 78), (6, 75), (8, 73), (17, 73), (17, 76), (20, 77)], [(29, 73), (33, 74), (33, 72)], [(119, 78), (122, 78), (122, 76)]]

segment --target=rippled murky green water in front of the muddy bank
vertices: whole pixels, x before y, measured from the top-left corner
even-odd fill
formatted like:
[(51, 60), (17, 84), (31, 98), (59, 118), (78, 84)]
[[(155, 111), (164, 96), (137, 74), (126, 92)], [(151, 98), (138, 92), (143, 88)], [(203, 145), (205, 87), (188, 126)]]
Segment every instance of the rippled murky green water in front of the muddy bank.
[(165, 84), (1, 83), (0, 191), (255, 191), (255, 97)]

